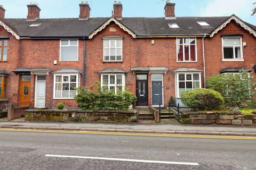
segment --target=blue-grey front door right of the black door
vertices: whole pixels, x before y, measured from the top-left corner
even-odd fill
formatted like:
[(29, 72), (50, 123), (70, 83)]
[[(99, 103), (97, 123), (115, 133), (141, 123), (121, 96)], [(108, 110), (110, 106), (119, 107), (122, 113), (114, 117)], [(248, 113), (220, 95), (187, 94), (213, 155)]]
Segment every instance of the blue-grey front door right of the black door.
[(152, 105), (163, 105), (163, 83), (162, 81), (152, 81)]

